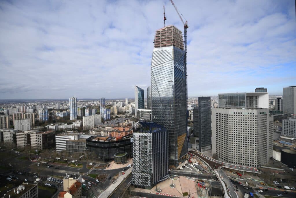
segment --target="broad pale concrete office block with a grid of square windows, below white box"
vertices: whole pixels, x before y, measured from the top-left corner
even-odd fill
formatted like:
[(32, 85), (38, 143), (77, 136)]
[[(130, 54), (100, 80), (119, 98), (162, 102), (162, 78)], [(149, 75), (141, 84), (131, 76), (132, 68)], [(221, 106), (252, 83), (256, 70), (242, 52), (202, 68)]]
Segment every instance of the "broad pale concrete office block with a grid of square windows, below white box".
[[(212, 109), (212, 154), (251, 167), (272, 157), (273, 117), (268, 109)], [(271, 126), (270, 126), (271, 125)]]

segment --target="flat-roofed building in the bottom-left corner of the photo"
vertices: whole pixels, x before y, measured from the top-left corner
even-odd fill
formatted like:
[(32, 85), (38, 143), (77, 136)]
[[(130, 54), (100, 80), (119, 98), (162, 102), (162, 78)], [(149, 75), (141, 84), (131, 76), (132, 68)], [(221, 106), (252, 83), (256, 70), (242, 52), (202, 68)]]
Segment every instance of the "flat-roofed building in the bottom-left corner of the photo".
[[(40, 197), (43, 197), (42, 195)], [(38, 187), (35, 183), (22, 183), (11, 189), (2, 198), (38, 198)]]

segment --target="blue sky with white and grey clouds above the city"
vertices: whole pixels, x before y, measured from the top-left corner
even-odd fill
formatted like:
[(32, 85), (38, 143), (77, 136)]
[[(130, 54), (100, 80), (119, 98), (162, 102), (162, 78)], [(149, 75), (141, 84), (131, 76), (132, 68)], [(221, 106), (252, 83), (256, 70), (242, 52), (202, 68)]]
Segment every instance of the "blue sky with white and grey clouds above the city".
[[(294, 2), (175, 0), (189, 25), (188, 95), (296, 85)], [(168, 0), (0, 1), (0, 99), (134, 97), (150, 84), (163, 4), (183, 30)]]

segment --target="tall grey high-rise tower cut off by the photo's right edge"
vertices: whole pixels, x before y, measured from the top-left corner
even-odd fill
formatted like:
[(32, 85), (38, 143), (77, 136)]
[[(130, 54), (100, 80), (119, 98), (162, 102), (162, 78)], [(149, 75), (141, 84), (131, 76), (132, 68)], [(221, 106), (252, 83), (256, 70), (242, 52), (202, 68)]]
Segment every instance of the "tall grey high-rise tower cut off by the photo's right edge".
[(296, 86), (283, 88), (284, 114), (294, 117), (296, 114)]

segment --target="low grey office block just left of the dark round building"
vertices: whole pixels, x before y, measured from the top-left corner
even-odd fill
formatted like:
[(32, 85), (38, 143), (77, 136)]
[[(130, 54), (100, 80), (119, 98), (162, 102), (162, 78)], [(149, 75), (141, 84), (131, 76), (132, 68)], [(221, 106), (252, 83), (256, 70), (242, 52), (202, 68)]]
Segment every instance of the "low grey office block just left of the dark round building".
[(66, 140), (66, 151), (69, 156), (80, 157), (86, 153), (86, 140)]

